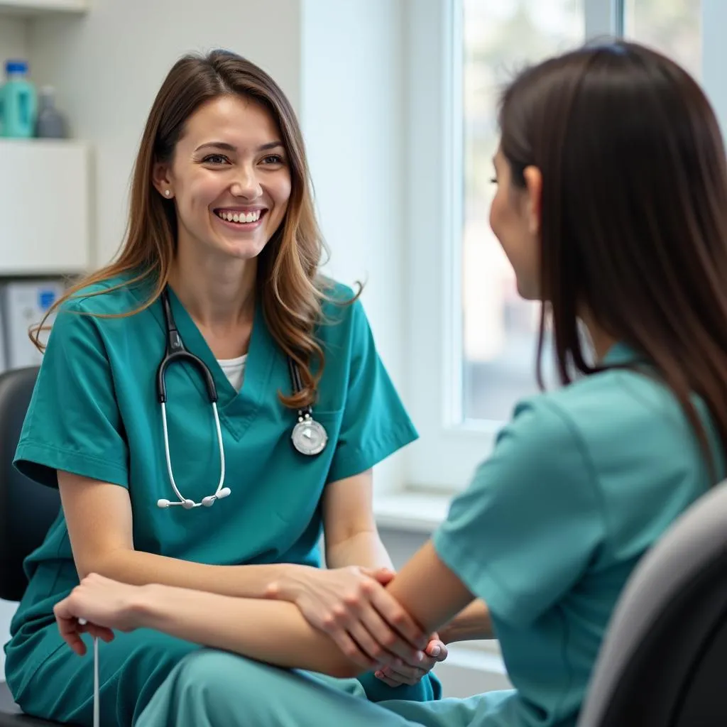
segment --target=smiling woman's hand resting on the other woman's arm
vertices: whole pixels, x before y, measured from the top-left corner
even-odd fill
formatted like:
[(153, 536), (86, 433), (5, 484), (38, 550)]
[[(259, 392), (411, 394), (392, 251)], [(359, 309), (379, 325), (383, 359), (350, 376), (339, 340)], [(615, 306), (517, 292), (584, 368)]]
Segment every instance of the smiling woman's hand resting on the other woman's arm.
[(266, 598), (295, 603), (351, 661), (367, 670), (420, 667), (429, 638), (384, 585), (394, 574), (348, 566), (296, 569), (270, 584)]

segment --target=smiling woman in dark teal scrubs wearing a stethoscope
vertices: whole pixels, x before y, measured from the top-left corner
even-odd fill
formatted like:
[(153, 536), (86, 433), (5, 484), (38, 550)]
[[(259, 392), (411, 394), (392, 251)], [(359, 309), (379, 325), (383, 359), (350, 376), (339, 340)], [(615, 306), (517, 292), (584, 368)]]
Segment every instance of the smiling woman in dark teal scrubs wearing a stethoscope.
[[(364, 670), (341, 689), (440, 696), (446, 648), (385, 589), (371, 512), (372, 467), (417, 433), (323, 249), (281, 89), (229, 52), (182, 58), (142, 135), (118, 260), (54, 308), (16, 453), (63, 503), (7, 645), (26, 712), (92, 723), (93, 662), (52, 616), (91, 573), (289, 601)], [(134, 723), (196, 648), (148, 631), (100, 648), (104, 727)]]

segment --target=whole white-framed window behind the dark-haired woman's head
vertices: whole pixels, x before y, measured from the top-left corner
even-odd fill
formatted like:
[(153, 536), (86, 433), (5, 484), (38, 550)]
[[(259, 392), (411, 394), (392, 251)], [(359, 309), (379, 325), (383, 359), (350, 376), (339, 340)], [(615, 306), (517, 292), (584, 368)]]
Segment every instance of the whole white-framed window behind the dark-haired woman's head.
[(537, 390), (537, 304), (518, 297), (489, 229), (499, 88), (585, 39), (626, 36), (685, 65), (727, 120), (718, 32), (727, 3), (415, 0), (409, 12), (408, 403), (421, 435), (409, 482), (451, 490), (489, 454), (515, 402)]

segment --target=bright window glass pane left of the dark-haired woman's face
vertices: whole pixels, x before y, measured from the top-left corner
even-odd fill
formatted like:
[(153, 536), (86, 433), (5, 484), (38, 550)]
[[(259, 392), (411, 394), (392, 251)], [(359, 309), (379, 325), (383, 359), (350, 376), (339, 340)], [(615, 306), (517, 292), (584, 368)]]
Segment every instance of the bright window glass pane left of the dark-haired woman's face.
[[(535, 393), (539, 306), (521, 299), (489, 226), (499, 88), (523, 63), (585, 40), (582, 0), (463, 0), (461, 420), (502, 422)], [(544, 357), (545, 361), (545, 357)]]

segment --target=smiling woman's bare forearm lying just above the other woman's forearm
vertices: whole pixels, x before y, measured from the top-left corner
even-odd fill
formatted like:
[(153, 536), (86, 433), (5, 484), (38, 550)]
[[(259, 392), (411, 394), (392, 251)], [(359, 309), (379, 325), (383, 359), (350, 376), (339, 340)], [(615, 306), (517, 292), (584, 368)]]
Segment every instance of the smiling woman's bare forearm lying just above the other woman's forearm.
[(242, 598), (265, 598), (271, 582), (278, 581), (293, 569), (302, 568), (305, 566), (288, 563), (209, 566), (139, 550), (116, 550), (95, 564), (96, 573), (122, 583), (161, 583)]

